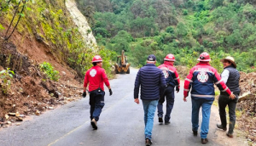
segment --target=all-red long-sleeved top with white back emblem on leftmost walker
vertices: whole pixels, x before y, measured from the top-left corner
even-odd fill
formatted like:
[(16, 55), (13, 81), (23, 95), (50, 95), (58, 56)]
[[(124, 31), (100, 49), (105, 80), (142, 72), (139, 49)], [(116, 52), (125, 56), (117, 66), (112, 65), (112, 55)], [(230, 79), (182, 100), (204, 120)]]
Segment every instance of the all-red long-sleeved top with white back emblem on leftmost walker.
[(89, 92), (96, 90), (98, 87), (104, 91), (104, 85), (108, 87), (109, 81), (106, 71), (100, 66), (93, 66), (90, 70), (87, 70), (84, 76), (84, 87), (87, 87), (89, 83)]

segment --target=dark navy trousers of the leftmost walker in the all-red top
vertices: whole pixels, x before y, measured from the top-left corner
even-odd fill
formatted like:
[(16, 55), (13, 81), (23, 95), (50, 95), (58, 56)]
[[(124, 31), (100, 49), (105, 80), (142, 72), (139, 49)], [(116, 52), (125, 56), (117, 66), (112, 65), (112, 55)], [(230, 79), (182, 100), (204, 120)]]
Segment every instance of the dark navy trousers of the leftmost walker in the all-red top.
[(99, 121), (102, 109), (105, 105), (104, 103), (105, 92), (102, 93), (90, 93), (90, 120), (93, 118)]

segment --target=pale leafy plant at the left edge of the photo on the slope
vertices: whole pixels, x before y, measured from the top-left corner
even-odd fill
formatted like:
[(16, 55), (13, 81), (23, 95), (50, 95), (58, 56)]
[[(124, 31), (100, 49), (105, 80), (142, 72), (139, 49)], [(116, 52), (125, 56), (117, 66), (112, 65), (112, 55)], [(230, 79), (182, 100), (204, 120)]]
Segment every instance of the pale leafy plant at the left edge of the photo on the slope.
[(7, 70), (0, 71), (0, 79), (2, 80), (0, 80), (0, 87), (3, 91), (3, 94), (9, 93), (13, 75), (15, 75), (15, 72), (13, 70), (9, 70), (9, 68), (7, 68)]

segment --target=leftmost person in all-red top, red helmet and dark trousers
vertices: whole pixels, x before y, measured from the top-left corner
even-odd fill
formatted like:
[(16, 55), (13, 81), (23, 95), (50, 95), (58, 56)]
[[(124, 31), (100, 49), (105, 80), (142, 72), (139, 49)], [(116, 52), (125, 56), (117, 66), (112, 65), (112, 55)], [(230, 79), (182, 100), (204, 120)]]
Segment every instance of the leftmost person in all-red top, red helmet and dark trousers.
[(94, 129), (97, 129), (96, 122), (99, 121), (99, 117), (102, 113), (102, 108), (104, 107), (104, 85), (108, 87), (109, 94), (112, 95), (112, 90), (108, 81), (108, 76), (106, 71), (102, 69), (102, 58), (96, 55), (92, 59), (93, 66), (90, 70), (87, 70), (84, 76), (84, 93), (83, 97), (86, 97), (86, 88), (89, 83), (89, 93), (90, 93), (90, 124)]

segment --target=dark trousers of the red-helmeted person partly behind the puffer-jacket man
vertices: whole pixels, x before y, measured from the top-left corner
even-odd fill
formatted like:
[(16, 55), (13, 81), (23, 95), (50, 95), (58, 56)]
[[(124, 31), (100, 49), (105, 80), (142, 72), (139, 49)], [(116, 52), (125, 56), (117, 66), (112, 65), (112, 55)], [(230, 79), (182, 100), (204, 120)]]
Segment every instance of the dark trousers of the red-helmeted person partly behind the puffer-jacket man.
[(158, 110), (158, 117), (163, 117), (163, 103), (165, 102), (166, 98), (166, 115), (165, 115), (165, 121), (170, 121), (171, 119), (171, 113), (172, 113), (172, 108), (174, 104), (174, 87), (168, 86), (165, 89), (163, 97), (160, 98), (160, 101), (157, 105), (157, 110)]

